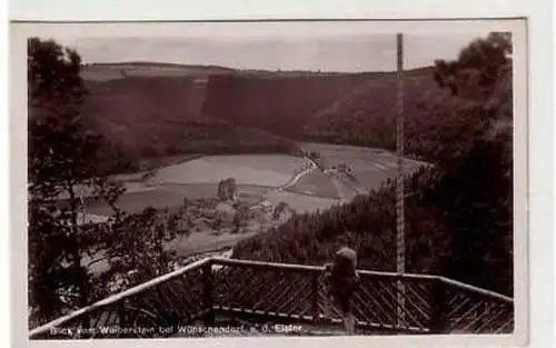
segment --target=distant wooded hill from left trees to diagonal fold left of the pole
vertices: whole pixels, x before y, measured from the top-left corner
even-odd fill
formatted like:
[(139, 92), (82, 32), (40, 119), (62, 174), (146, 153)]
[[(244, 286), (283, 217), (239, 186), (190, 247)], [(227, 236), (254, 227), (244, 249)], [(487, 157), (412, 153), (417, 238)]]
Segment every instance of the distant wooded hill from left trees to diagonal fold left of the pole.
[[(187, 153), (295, 151), (315, 112), (357, 89), (368, 76), (239, 71), (219, 67), (96, 64), (82, 68), (83, 121), (121, 153), (118, 171), (141, 160)], [(207, 79), (205, 96), (195, 79)], [(196, 100), (198, 98), (199, 100)], [(191, 105), (200, 103), (195, 112)]]

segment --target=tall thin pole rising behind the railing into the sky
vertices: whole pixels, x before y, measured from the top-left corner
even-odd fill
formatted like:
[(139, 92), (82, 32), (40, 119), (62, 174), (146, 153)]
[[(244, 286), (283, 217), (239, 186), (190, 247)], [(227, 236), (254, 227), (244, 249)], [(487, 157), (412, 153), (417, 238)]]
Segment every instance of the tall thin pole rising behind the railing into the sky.
[[(398, 177), (396, 185), (396, 261), (397, 272), (406, 271), (406, 240), (405, 240), (405, 212), (404, 212), (404, 38), (401, 33), (396, 34), (397, 46), (397, 127), (396, 127), (396, 155), (398, 165)], [(401, 279), (397, 280), (397, 318), (398, 328), (405, 322), (405, 285)]]

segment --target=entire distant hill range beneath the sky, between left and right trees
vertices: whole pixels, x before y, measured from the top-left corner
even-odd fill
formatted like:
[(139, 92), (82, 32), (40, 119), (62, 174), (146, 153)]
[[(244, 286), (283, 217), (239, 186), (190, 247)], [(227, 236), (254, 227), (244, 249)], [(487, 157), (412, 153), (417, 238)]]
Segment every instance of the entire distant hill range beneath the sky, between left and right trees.
[[(289, 152), (294, 145), (286, 138), (381, 148), (395, 143), (395, 72), (121, 62), (88, 64), (81, 74), (89, 89), (87, 122), (133, 158), (224, 148)], [(446, 95), (431, 74), (431, 68), (405, 74), (409, 128), (427, 117), (428, 103)]]

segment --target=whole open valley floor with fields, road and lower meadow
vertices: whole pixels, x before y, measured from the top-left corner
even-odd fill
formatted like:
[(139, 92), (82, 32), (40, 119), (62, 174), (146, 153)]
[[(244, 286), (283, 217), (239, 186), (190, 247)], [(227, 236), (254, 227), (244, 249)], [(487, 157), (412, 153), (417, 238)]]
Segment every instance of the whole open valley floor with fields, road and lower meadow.
[[(378, 189), (386, 179), (395, 178), (398, 172), (397, 158), (388, 151), (321, 143), (301, 146), (306, 150), (318, 152), (325, 167), (319, 168), (308, 158), (284, 155), (195, 157), (189, 161), (161, 168), (146, 181), (138, 181), (132, 175), (128, 175), (127, 178), (131, 180), (125, 180), (123, 185), (129, 190), (119, 199), (118, 205), (131, 213), (149, 206), (157, 209), (168, 208), (170, 212), (179, 211), (185, 197), (188, 201), (216, 199), (218, 182), (234, 178), (238, 183), (239, 201), (250, 207), (268, 202), (270, 209), (274, 209), (285, 202), (291, 211), (314, 212), (345, 203), (370, 189)], [(407, 160), (405, 169), (415, 170), (421, 165)], [(103, 202), (89, 199), (87, 212), (106, 216), (110, 213), (110, 208)], [(232, 233), (229, 229), (217, 231), (207, 225), (197, 225), (191, 233), (181, 235), (167, 243), (167, 247), (176, 250), (178, 256), (187, 258), (231, 248), (238, 241), (276, 225), (261, 225), (255, 220), (249, 223), (250, 228), (239, 233)], [(83, 262), (90, 261), (91, 259), (88, 259)], [(95, 267), (98, 270), (103, 266), (102, 262), (96, 262)]]

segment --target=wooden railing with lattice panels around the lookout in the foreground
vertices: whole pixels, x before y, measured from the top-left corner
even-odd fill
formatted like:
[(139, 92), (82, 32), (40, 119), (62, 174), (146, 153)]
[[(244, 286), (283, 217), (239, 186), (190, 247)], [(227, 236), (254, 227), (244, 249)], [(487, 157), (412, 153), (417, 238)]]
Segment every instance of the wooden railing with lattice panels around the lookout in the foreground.
[[(500, 334), (514, 327), (513, 299), (438, 276), (359, 270), (354, 315), (366, 334)], [(31, 339), (176, 336), (219, 317), (250, 322), (341, 322), (324, 267), (207, 258), (30, 331)], [(397, 281), (405, 286), (398, 308)], [(404, 320), (399, 320), (398, 312)]]

